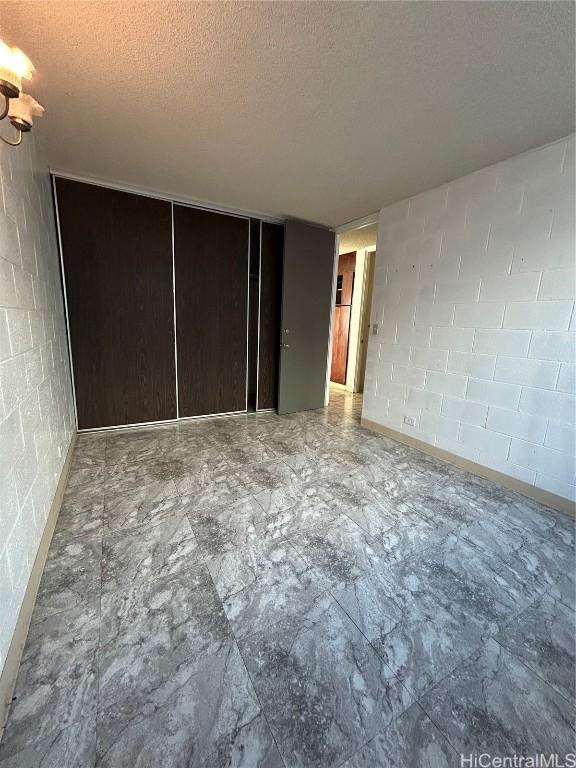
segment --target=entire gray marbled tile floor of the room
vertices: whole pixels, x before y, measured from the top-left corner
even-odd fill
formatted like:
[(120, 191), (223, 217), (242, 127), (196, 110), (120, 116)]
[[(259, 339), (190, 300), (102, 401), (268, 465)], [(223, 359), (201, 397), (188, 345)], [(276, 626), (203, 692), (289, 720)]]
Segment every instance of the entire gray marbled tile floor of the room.
[(360, 410), (81, 434), (0, 768), (574, 751), (574, 521)]

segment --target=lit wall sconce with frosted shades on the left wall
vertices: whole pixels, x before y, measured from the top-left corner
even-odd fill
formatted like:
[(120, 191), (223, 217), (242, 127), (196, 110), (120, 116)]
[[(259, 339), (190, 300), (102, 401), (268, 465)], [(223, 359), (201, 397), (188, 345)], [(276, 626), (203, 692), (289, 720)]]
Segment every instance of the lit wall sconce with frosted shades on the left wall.
[(34, 65), (19, 48), (10, 48), (0, 40), (0, 95), (4, 96), (4, 109), (0, 111), (0, 120), (6, 116), (18, 131), (15, 141), (0, 139), (11, 147), (17, 147), (22, 141), (22, 134), (32, 128), (35, 117), (44, 112), (38, 102), (22, 91), (22, 80), (29, 80), (34, 72)]

